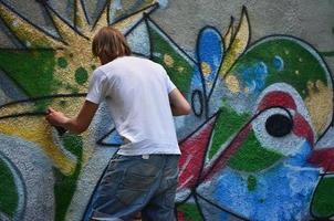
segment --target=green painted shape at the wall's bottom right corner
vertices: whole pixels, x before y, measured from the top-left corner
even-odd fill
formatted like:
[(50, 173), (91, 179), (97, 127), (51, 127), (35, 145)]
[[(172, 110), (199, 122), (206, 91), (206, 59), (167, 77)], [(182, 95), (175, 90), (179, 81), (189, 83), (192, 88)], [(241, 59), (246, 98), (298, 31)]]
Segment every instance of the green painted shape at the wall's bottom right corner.
[(327, 218), (334, 215), (334, 177), (321, 179), (312, 203), (312, 212), (316, 218)]

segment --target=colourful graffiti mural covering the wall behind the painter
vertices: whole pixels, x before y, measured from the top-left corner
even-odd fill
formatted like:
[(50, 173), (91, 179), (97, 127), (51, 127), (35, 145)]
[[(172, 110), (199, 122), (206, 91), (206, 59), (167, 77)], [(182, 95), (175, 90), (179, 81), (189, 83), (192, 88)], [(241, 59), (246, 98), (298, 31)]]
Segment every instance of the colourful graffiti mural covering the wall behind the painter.
[(106, 1), (94, 13), (86, 4), (75, 0), (66, 19), (40, 1), (50, 33), (0, 2), (3, 31), (20, 45), (0, 49), (0, 220), (87, 220), (121, 139), (105, 105), (81, 136), (50, 127), (44, 115), (49, 105), (79, 110), (98, 65), (92, 36), (104, 25), (163, 64), (191, 103), (189, 116), (175, 118), (179, 221), (334, 217), (334, 146), (321, 145), (332, 133), (333, 78), (316, 49), (289, 35), (250, 43), (243, 7), (223, 35), (202, 28), (192, 57), (152, 19), (158, 2)]

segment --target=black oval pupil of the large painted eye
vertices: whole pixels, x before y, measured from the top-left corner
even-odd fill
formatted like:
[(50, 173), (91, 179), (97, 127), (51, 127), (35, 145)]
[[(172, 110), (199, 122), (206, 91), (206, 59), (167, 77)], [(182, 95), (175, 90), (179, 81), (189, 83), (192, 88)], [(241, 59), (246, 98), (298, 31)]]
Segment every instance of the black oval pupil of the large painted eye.
[(283, 114), (274, 114), (267, 118), (265, 129), (273, 137), (284, 137), (292, 130), (293, 123), (291, 117)]

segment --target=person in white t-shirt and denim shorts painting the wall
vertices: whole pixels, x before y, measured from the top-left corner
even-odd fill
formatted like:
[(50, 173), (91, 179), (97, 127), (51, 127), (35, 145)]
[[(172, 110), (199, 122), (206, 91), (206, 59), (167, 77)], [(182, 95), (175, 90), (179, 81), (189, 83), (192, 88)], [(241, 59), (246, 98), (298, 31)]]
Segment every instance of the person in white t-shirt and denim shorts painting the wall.
[(175, 220), (174, 200), (180, 150), (173, 115), (186, 115), (190, 105), (164, 67), (131, 55), (121, 32), (103, 28), (95, 35), (93, 54), (101, 66), (92, 76), (88, 94), (74, 118), (49, 108), (53, 126), (82, 133), (102, 101), (124, 140), (111, 160), (93, 199), (92, 220)]

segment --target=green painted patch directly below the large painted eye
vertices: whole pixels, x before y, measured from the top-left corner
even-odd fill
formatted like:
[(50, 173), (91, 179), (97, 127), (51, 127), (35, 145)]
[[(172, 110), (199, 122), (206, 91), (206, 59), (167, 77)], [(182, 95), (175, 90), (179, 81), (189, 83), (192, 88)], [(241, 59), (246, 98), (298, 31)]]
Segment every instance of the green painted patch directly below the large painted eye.
[(228, 166), (239, 171), (258, 172), (272, 166), (282, 157), (283, 155), (262, 147), (254, 131), (250, 131), (239, 150), (228, 160)]

